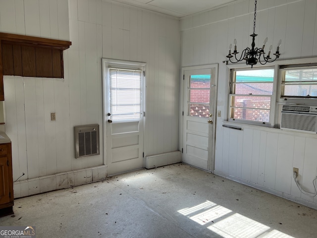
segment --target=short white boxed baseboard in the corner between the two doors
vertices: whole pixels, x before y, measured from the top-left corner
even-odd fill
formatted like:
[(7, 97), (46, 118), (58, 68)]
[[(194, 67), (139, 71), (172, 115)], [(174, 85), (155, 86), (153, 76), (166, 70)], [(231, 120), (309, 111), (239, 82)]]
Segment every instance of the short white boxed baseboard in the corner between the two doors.
[(181, 152), (173, 151), (145, 157), (145, 168), (153, 169), (160, 166), (171, 165), (181, 162)]

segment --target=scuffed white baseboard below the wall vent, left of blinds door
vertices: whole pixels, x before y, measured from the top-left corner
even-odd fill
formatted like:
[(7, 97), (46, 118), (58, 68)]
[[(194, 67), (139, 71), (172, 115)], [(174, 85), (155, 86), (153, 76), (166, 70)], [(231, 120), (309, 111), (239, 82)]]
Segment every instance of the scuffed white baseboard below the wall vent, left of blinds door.
[(106, 177), (107, 166), (101, 165), (34, 179), (25, 179), (13, 183), (13, 196), (14, 198), (31, 196), (43, 192), (104, 180)]

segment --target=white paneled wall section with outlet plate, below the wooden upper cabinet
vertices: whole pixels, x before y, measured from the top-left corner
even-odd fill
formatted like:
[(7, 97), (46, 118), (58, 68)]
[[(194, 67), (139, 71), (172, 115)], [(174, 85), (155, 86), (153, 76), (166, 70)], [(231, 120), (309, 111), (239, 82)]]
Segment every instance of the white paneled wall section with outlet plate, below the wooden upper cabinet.
[[(72, 170), (68, 80), (4, 76), (4, 89), (13, 179)], [(53, 112), (56, 121), (51, 121)]]

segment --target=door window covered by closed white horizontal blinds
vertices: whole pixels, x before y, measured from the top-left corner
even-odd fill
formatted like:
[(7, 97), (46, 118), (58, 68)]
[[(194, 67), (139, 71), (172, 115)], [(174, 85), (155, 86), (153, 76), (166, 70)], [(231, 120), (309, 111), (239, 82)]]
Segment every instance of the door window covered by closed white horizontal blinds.
[(142, 70), (109, 68), (111, 119), (142, 116)]

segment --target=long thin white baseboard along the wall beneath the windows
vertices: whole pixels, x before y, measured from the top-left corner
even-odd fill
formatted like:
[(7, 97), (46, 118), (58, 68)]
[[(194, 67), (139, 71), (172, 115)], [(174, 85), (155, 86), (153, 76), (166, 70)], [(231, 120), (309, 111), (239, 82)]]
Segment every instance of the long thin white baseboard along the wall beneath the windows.
[(296, 202), (296, 203), (299, 203), (299, 204), (302, 204), (304, 206), (311, 207), (311, 208), (314, 208), (314, 209), (317, 210), (317, 204), (316, 203), (308, 201), (308, 200), (305, 200), (303, 198), (295, 197), (293, 195), (286, 194), (284, 192), (280, 192), (280, 191), (277, 191), (277, 190), (274, 190), (274, 189), (271, 189), (271, 188), (268, 188), (268, 187), (264, 187), (264, 186), (262, 186), (260, 184), (253, 183), (253, 182), (250, 182), (250, 181), (247, 181), (247, 180), (244, 180), (244, 179), (236, 178), (236, 177), (233, 177), (233, 176), (230, 176), (230, 175), (225, 175), (225, 174), (223, 174), (220, 171), (213, 171), (213, 174), (215, 174), (217, 176), (221, 176), (221, 177), (226, 178), (226, 179), (230, 179), (230, 180), (242, 183), (244, 185), (248, 185), (250, 187), (257, 188), (257, 189), (262, 190), (264, 192), (273, 194), (273, 195), (278, 196), (278, 197), (285, 198), (285, 199), (290, 200), (292, 202)]

